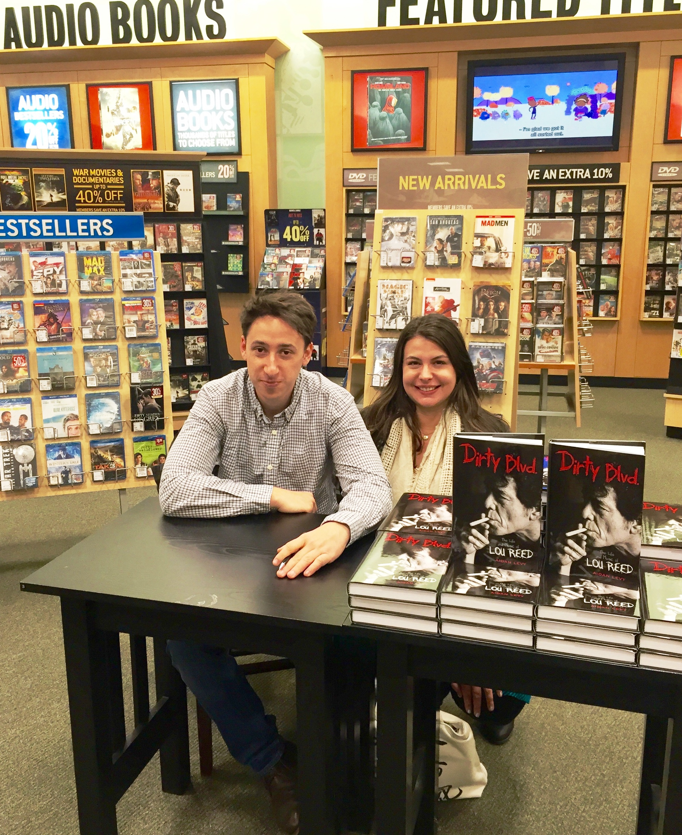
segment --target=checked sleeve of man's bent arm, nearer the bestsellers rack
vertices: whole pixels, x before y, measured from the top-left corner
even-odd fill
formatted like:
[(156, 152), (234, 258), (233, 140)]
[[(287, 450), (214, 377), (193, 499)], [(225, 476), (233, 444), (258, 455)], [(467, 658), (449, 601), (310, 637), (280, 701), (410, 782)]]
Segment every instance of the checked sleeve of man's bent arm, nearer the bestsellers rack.
[(159, 484), (166, 516), (215, 519), (270, 510), (272, 487), (214, 476), (225, 439), (223, 421), (202, 389), (169, 449)]

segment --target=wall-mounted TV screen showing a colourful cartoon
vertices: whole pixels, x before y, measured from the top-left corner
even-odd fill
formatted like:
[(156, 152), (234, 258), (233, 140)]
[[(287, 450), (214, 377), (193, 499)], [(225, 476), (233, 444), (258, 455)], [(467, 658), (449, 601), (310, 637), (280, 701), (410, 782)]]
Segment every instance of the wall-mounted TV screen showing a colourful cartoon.
[(615, 151), (622, 53), (470, 61), (467, 154)]

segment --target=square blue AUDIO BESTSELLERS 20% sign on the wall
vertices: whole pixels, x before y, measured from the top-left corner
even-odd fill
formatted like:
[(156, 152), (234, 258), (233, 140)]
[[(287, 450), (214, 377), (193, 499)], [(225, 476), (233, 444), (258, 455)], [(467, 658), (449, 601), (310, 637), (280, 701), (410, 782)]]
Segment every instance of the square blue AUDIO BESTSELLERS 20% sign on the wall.
[(8, 87), (13, 148), (73, 148), (68, 85)]

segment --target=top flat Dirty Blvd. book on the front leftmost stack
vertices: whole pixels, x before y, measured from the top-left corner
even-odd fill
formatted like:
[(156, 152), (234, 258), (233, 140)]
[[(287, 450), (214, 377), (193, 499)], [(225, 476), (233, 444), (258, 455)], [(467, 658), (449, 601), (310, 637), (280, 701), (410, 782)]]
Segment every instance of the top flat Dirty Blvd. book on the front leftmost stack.
[(348, 584), (349, 595), (434, 603), (450, 538), (381, 531)]

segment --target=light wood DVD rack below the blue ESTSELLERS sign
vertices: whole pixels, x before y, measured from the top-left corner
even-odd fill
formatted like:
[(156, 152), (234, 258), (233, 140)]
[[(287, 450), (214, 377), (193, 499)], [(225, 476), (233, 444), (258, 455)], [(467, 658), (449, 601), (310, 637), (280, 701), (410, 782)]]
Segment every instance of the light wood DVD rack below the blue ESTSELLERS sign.
[(0, 293), (0, 500), (154, 483), (173, 438), (161, 259), (123, 275), (117, 247), (0, 253), (23, 273)]

